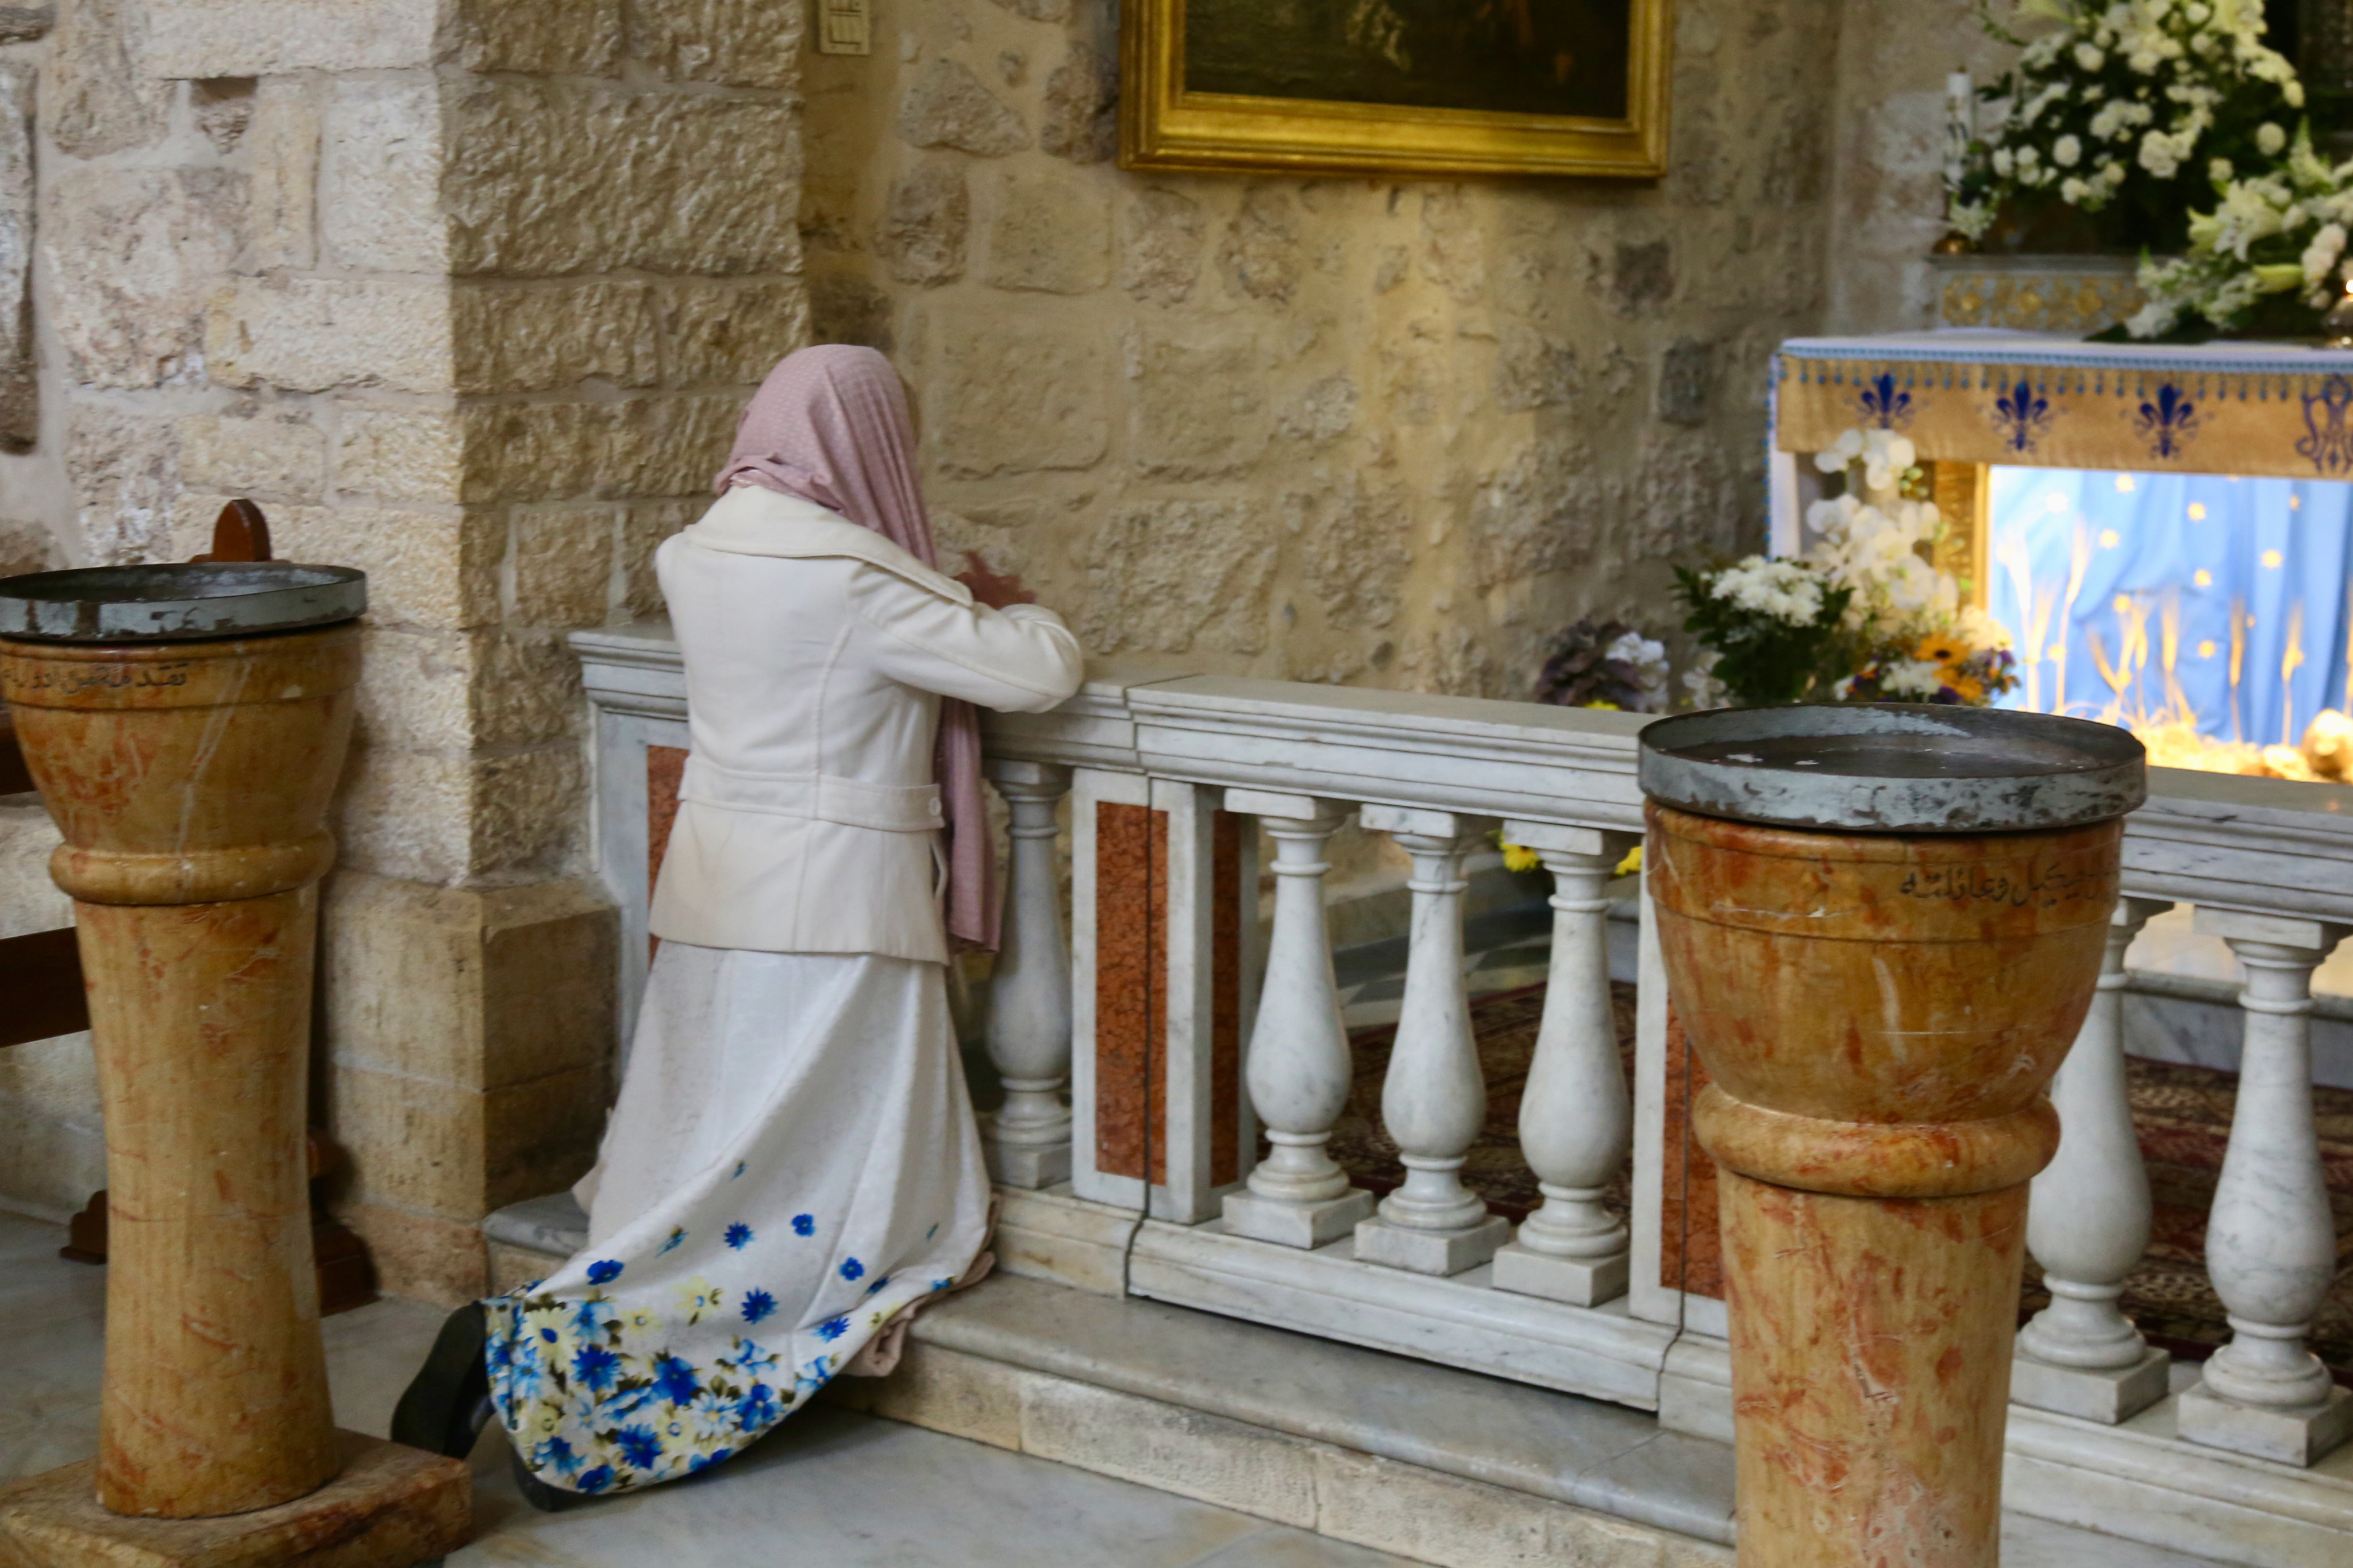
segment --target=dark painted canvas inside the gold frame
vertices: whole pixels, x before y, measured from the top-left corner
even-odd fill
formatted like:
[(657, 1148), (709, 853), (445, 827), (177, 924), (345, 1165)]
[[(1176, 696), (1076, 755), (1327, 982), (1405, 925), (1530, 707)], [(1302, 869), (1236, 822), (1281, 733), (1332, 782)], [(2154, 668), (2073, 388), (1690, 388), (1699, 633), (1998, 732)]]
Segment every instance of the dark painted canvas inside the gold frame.
[(1624, 120), (1633, 0), (1184, 0), (1186, 92)]

